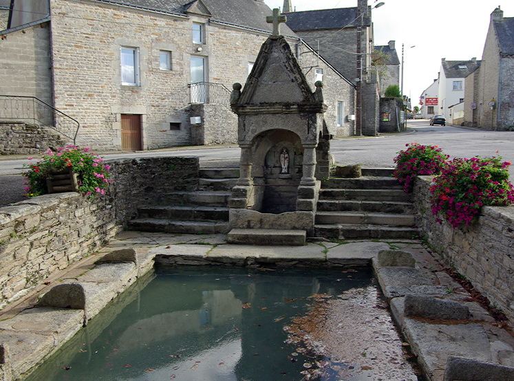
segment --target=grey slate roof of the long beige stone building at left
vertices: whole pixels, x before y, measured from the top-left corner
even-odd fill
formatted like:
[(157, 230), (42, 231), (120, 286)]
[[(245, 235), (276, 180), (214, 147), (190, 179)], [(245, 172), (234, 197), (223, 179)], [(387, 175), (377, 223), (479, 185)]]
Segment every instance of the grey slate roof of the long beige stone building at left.
[[(2, 0), (0, 0), (2, 1)], [(5, 0), (4, 0), (5, 1)], [(124, 6), (133, 6), (154, 10), (157, 12), (167, 12), (171, 14), (186, 15), (186, 9), (191, 5), (191, 1), (180, 0), (95, 0), (104, 3), (114, 3)], [(265, 3), (256, 0), (202, 0), (206, 8), (211, 12), (213, 21), (221, 21), (232, 25), (253, 28), (272, 32), (272, 25), (266, 23), (266, 16), (270, 16), (272, 11)], [(281, 34), (295, 36), (286, 25), (281, 24)]]

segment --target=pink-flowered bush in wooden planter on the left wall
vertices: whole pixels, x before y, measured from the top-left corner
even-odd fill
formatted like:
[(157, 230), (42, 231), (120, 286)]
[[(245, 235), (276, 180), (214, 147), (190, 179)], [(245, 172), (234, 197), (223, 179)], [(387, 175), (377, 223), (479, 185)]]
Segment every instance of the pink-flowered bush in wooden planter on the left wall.
[[(32, 160), (32, 157), (28, 159)], [(25, 195), (28, 197), (48, 193), (46, 179), (51, 177), (52, 171), (63, 171), (69, 167), (77, 174), (78, 191), (91, 198), (97, 194), (104, 195), (105, 188), (113, 181), (109, 179), (109, 164), (105, 164), (102, 157), (93, 153), (89, 147), (79, 149), (77, 146), (68, 145), (65, 148), (59, 147), (56, 152), (48, 149), (36, 163), (23, 166), (28, 168), (23, 173), (27, 178)]]

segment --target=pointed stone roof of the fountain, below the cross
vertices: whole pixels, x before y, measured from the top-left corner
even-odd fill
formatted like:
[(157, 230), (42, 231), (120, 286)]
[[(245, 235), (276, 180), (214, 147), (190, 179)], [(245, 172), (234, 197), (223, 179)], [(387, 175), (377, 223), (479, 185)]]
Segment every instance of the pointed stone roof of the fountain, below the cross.
[(261, 47), (237, 105), (299, 105), (314, 98), (286, 39), (268, 39)]

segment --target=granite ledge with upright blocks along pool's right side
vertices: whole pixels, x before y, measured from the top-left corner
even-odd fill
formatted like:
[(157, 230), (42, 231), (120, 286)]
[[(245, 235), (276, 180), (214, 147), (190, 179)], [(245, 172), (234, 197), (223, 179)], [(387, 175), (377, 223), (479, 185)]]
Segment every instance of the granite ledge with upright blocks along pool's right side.
[[(496, 380), (489, 377), (489, 363), (507, 372), (514, 371), (513, 346), (492, 334), (491, 318), (482, 307), (469, 302), (469, 294), (453, 292), (460, 288), (453, 280), (446, 279), (453, 285), (440, 285), (438, 276), (420, 268), (409, 256), (402, 250), (382, 250), (372, 259), (372, 265), (392, 316), (418, 356), (428, 380)], [(458, 370), (470, 363), (475, 373)], [(459, 373), (460, 378), (453, 378)]]

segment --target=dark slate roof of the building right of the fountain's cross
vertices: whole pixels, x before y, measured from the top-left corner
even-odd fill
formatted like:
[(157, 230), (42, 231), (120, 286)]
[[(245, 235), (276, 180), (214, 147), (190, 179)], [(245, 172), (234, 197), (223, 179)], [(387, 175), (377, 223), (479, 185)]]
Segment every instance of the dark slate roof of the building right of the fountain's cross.
[[(288, 27), (295, 32), (300, 30), (325, 30), (356, 27), (357, 8), (336, 8), (325, 10), (306, 10), (286, 13)], [(363, 26), (370, 26), (364, 18)]]

